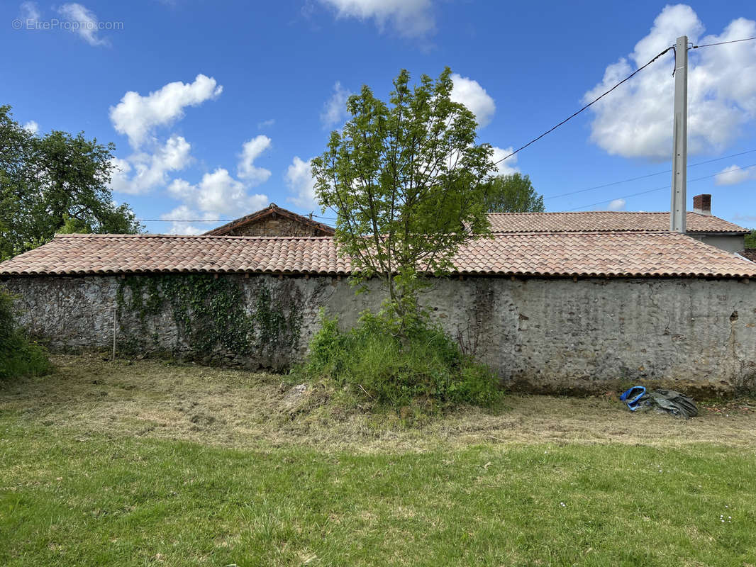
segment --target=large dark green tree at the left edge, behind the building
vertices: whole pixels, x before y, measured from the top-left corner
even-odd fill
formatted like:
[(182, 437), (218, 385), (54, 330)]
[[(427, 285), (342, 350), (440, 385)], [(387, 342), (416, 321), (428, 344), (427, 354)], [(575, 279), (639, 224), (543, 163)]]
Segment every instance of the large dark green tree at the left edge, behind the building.
[(53, 131), (39, 136), (0, 106), (0, 259), (50, 240), (61, 228), (134, 234), (143, 230), (110, 191), (113, 144)]

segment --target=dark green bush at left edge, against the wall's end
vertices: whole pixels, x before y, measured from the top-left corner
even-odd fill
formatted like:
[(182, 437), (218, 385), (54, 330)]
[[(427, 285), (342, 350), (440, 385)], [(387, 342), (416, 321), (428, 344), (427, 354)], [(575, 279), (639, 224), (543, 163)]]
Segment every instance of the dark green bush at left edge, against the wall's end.
[(0, 290), (0, 380), (47, 373), (47, 352), (26, 337), (13, 315), (13, 296)]

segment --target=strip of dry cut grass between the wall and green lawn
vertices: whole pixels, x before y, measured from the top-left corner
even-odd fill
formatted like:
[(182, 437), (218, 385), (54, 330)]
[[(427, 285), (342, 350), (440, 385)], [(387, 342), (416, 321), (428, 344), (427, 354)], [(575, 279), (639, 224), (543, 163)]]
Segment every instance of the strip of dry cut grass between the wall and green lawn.
[(272, 374), (150, 360), (112, 363), (96, 355), (57, 356), (54, 363), (52, 376), (0, 383), (0, 417), (22, 413), (29, 422), (82, 438), (138, 435), (247, 448), (425, 451), (540, 442), (756, 448), (756, 402), (744, 398), (707, 402), (701, 417), (685, 421), (631, 414), (611, 395), (507, 395), (494, 412), (462, 408), (407, 427), (399, 415), (296, 411), (322, 392), (292, 388)]

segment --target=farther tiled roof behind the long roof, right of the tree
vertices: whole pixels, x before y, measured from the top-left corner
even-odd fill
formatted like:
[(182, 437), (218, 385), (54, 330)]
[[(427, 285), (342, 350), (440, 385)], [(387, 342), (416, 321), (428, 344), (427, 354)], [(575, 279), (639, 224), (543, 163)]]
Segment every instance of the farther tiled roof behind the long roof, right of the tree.
[[(494, 232), (658, 232), (669, 230), (668, 212), (492, 212), (488, 219)], [(687, 231), (691, 233), (745, 234), (747, 228), (722, 218), (688, 212)]]

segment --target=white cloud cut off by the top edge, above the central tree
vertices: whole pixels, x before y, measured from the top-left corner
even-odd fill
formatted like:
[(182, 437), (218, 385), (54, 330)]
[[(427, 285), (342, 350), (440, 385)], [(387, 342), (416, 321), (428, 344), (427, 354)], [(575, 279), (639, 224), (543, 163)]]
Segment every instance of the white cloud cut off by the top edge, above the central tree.
[(337, 17), (376, 21), (383, 31), (390, 23), (401, 35), (422, 38), (435, 30), (430, 0), (320, 0), (336, 9)]

